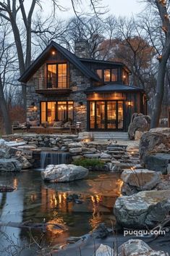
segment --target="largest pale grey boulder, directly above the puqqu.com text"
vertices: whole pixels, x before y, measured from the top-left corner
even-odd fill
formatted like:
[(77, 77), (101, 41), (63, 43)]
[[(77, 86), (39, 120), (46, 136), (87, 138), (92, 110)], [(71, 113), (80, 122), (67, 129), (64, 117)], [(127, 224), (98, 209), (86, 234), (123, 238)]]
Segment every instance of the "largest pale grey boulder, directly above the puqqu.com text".
[(153, 228), (170, 211), (170, 190), (141, 191), (116, 199), (114, 215), (125, 228)]

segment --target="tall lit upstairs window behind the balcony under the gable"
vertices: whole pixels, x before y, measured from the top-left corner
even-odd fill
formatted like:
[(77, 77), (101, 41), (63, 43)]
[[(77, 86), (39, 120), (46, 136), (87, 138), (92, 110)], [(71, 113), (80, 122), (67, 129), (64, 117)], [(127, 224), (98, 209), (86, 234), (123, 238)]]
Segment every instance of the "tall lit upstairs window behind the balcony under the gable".
[(47, 65), (47, 88), (67, 88), (67, 64)]

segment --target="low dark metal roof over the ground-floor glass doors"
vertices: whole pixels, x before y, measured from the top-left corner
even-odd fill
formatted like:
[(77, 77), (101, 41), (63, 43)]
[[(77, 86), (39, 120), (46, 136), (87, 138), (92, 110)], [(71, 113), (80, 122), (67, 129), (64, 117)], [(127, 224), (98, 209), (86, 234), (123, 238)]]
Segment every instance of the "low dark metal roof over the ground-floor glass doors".
[(108, 83), (104, 86), (95, 86), (88, 88), (85, 93), (90, 94), (93, 92), (103, 93), (103, 92), (113, 92), (113, 91), (143, 91), (143, 88), (139, 88), (136, 86), (125, 86), (124, 84), (116, 84), (116, 83)]

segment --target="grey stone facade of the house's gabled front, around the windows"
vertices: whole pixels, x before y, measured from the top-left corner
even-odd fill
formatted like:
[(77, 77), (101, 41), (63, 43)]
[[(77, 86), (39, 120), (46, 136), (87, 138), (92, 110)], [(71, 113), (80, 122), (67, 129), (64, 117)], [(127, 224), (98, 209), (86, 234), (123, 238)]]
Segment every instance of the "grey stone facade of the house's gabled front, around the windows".
[[(41, 70), (41, 71), (40, 71)], [(44, 65), (35, 74), (41, 74), (41, 77), (45, 76)], [(33, 78), (27, 83), (27, 119), (28, 120), (40, 120), (40, 104), (41, 101), (73, 101), (74, 102), (74, 122), (82, 123), (82, 131), (87, 129), (87, 96), (85, 89), (91, 86), (90, 79), (82, 75), (80, 70), (70, 64), (70, 88), (72, 92), (68, 96), (50, 96), (46, 97), (41, 94), (35, 93), (35, 86)], [(34, 107), (33, 107), (34, 104)]]

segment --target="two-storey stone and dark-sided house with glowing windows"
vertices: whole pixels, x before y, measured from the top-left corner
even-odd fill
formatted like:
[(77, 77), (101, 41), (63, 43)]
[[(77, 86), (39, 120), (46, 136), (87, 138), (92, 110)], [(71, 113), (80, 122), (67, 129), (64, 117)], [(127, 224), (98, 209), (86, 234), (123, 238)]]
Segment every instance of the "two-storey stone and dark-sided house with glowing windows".
[(129, 74), (120, 62), (90, 59), (86, 41), (75, 42), (75, 54), (51, 41), (19, 79), (27, 84), (27, 119), (127, 131), (134, 112), (146, 114), (145, 92), (129, 86)]

